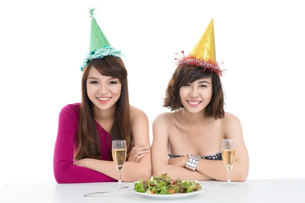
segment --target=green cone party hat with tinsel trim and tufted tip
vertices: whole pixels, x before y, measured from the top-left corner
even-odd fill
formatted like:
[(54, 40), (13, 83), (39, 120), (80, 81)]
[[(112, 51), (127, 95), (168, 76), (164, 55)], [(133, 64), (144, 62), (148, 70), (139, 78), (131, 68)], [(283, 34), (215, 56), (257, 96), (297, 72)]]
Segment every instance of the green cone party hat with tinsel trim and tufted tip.
[(100, 26), (95, 19), (95, 8), (89, 9), (89, 14), (91, 18), (91, 30), (90, 30), (90, 45), (89, 53), (86, 55), (83, 65), (81, 66), (81, 71), (84, 70), (88, 62), (95, 58), (103, 58), (104, 56), (115, 56), (121, 57), (121, 51), (113, 48)]

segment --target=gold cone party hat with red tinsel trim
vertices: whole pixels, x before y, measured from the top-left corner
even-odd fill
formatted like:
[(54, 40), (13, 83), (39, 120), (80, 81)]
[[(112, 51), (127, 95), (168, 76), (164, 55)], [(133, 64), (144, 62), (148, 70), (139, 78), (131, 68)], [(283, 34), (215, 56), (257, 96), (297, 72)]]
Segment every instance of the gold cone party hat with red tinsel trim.
[(188, 56), (184, 55), (184, 51), (181, 53), (183, 54), (182, 58), (175, 58), (178, 60), (178, 65), (199, 66), (202, 67), (202, 72), (208, 70), (216, 73), (218, 76), (222, 76), (223, 70), (220, 69), (220, 65), (216, 61), (213, 19), (206, 27), (191, 53)]

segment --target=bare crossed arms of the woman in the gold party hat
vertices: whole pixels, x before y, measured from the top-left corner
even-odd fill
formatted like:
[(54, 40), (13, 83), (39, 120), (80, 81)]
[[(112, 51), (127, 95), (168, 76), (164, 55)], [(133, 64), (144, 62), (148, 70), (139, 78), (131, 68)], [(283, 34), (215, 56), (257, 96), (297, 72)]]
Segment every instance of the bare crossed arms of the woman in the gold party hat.
[[(231, 181), (246, 181), (249, 172), (249, 156), (242, 139), (241, 124), (237, 117), (229, 115), (224, 122), (226, 126), (225, 137), (235, 139), (237, 152), (235, 163), (231, 170)], [(167, 143), (168, 130), (166, 120), (163, 117), (156, 118), (153, 123), (154, 141), (151, 146), (151, 158), (153, 162), (153, 175), (158, 176), (168, 173), (172, 178), (189, 178), (192, 180), (227, 181), (227, 171), (221, 160), (200, 159), (196, 171), (185, 168), (188, 157), (182, 156), (168, 159)]]

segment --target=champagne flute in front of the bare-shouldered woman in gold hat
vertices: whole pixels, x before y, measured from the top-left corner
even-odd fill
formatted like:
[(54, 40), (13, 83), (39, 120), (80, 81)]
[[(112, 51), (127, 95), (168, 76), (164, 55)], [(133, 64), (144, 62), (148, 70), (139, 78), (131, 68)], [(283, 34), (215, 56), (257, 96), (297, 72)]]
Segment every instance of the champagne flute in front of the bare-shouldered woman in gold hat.
[(236, 187), (237, 185), (231, 183), (230, 172), (233, 167), (236, 158), (236, 143), (233, 139), (222, 140), (222, 158), (228, 172), (228, 182), (224, 184), (224, 187)]

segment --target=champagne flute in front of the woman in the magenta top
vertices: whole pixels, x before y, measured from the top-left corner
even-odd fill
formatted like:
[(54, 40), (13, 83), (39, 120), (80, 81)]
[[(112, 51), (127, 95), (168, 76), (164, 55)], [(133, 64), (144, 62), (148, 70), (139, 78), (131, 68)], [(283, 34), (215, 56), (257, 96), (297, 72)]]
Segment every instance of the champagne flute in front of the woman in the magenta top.
[(114, 140), (112, 141), (112, 159), (115, 164), (116, 170), (118, 171), (119, 178), (118, 184), (114, 185), (116, 188), (125, 187), (121, 183), (121, 171), (123, 170), (124, 163), (126, 161), (127, 147), (125, 140)]

